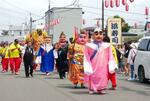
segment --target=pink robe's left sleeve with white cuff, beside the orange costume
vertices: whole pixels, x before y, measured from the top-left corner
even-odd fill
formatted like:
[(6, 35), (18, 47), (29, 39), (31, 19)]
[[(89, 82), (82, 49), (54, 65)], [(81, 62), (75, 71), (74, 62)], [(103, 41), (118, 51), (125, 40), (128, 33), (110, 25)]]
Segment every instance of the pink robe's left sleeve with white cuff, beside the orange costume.
[(90, 60), (90, 54), (89, 54), (89, 48), (87, 46), (84, 47), (83, 65), (84, 65), (85, 74), (90, 75), (93, 73), (92, 64)]

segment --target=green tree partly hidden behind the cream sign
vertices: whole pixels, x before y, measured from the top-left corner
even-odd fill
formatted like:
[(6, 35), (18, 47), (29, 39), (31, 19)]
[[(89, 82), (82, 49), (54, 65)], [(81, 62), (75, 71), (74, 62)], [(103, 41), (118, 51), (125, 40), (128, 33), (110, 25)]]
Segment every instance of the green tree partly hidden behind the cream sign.
[(121, 18), (122, 32), (128, 32), (130, 30), (130, 26), (122, 17), (120, 17), (119, 15), (115, 15), (113, 18)]

